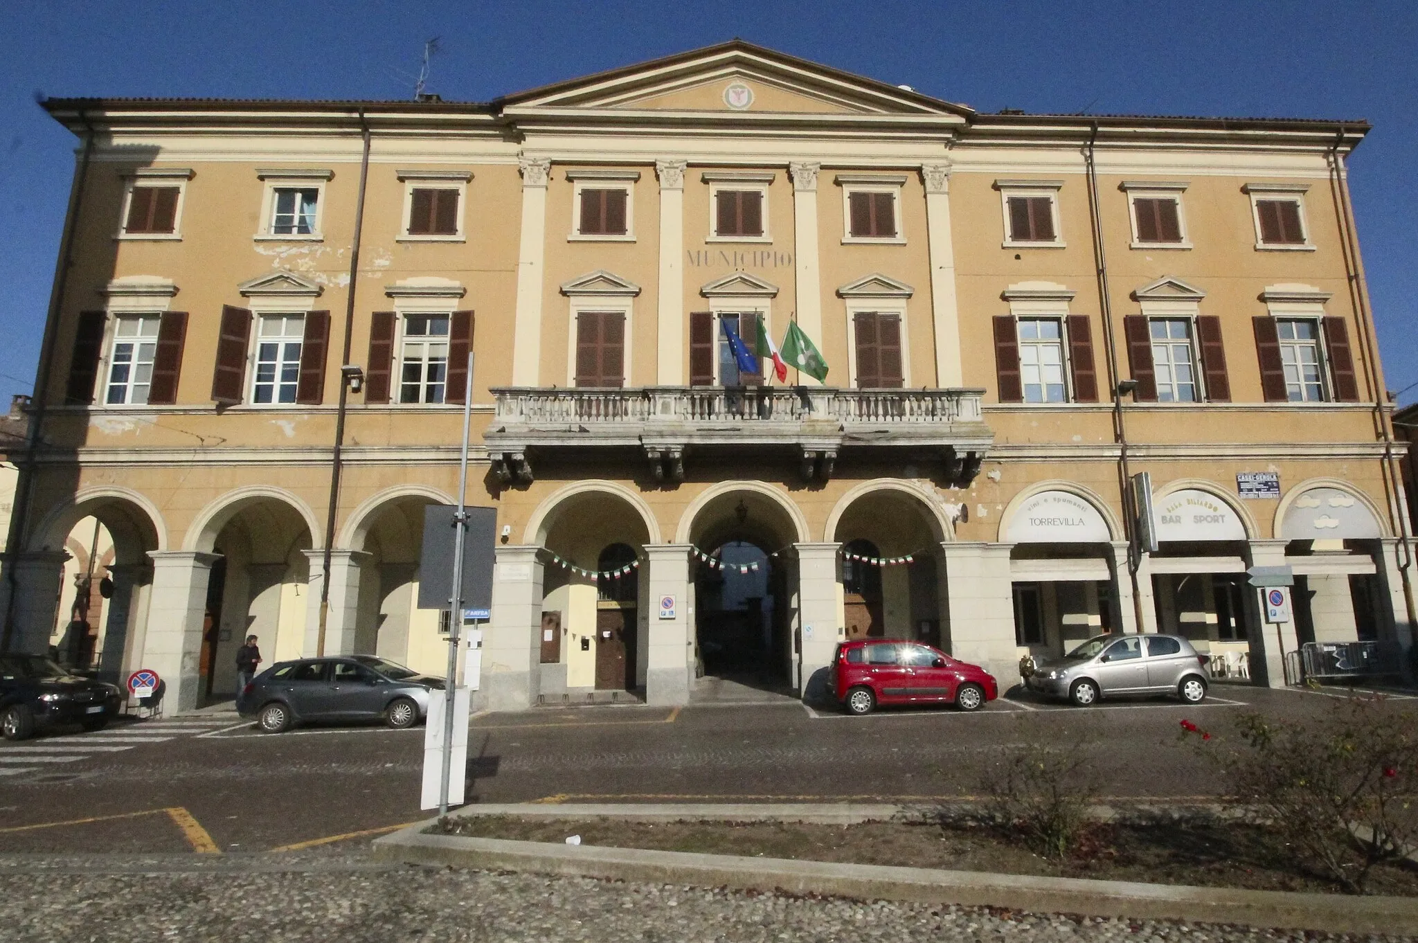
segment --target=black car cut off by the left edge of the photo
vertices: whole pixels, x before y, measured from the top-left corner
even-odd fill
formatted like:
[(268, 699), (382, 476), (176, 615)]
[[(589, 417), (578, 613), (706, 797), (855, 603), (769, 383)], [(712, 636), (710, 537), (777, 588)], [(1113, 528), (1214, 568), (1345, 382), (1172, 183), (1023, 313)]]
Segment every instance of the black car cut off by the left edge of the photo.
[(0, 733), (24, 740), (64, 723), (98, 730), (123, 709), (116, 685), (81, 678), (44, 655), (0, 655)]

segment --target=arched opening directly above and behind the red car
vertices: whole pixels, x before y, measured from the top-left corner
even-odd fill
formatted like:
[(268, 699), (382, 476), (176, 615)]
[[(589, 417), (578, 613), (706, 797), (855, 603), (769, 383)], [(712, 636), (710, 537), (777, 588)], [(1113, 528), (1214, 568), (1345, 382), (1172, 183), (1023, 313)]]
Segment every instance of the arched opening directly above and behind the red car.
[(949, 519), (912, 485), (868, 485), (844, 496), (828, 539), (847, 638), (910, 638), (949, 649), (944, 554)]

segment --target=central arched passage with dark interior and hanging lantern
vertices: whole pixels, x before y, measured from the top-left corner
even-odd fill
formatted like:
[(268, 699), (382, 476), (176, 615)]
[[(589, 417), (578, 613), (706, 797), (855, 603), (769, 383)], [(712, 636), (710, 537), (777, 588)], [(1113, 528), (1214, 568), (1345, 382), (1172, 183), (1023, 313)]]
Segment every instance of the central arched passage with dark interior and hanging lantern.
[(786, 498), (730, 488), (689, 522), (695, 675), (793, 692), (794, 567), (800, 519)]

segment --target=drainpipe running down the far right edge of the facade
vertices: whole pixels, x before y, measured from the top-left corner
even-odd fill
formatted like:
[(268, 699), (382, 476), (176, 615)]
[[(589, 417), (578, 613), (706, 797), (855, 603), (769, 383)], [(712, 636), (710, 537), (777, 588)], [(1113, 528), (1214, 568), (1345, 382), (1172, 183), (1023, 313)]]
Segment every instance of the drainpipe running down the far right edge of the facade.
[(1402, 472), (1398, 469), (1398, 455), (1394, 451), (1394, 433), (1391, 417), (1385, 407), (1387, 390), (1384, 377), (1378, 366), (1378, 343), (1374, 336), (1374, 316), (1368, 305), (1368, 285), (1364, 281), (1363, 262), (1358, 258), (1358, 242), (1354, 235), (1354, 208), (1349, 197), (1349, 179), (1343, 173), (1343, 157), (1339, 149), (1344, 143), (1344, 126), (1340, 125), (1339, 135), (1330, 147), (1330, 186), (1339, 201), (1339, 234), (1340, 250), (1344, 254), (1344, 275), (1349, 281), (1350, 298), (1354, 303), (1354, 313), (1358, 315), (1358, 329), (1364, 337), (1364, 360), (1368, 374), (1368, 384), (1374, 393), (1374, 420), (1378, 431), (1384, 437), (1384, 485), (1391, 489), (1394, 501), (1390, 503), (1390, 513), (1398, 529), (1398, 573), (1404, 584), (1404, 606), (1408, 610), (1409, 634), (1418, 625), (1418, 606), (1414, 604), (1412, 563), (1414, 550), (1408, 533), (1408, 515), (1405, 513), (1407, 496), (1402, 488)]

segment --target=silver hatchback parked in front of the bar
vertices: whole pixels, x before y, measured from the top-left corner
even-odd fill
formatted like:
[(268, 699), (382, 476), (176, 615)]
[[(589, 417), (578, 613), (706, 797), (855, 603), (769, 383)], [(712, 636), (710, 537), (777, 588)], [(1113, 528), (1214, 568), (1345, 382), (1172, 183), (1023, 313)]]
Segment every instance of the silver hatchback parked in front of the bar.
[(1176, 693), (1187, 703), (1207, 696), (1207, 672), (1197, 649), (1180, 635), (1098, 635), (1061, 659), (1029, 664), (1029, 691), (1088, 706), (1115, 695)]

